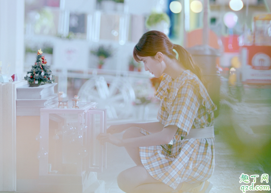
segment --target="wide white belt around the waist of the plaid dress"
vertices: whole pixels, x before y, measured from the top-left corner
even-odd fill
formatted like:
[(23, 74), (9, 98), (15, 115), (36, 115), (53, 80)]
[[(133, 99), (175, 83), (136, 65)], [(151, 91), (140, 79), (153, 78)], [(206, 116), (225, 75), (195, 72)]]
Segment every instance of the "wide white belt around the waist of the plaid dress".
[(203, 139), (211, 137), (214, 137), (213, 126), (200, 129), (190, 129), (188, 136), (183, 137), (183, 139)]

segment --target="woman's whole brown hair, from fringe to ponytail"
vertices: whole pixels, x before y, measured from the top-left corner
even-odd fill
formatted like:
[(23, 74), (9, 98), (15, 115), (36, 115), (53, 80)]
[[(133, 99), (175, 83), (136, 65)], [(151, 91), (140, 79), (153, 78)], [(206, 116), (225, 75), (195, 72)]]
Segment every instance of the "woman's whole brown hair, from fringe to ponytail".
[(191, 54), (182, 46), (173, 44), (169, 38), (161, 31), (148, 31), (142, 35), (139, 42), (134, 47), (133, 56), (136, 61), (140, 61), (138, 56), (155, 56), (157, 52), (162, 52), (169, 58), (176, 58), (175, 49), (178, 52), (178, 61), (190, 70), (203, 82), (201, 69), (195, 64)]

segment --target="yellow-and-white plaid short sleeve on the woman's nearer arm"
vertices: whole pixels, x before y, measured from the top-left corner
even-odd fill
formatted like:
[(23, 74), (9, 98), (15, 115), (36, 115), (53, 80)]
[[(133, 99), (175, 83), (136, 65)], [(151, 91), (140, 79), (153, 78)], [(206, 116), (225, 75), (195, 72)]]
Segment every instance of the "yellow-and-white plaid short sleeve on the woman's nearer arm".
[(199, 91), (188, 81), (179, 88), (164, 127), (176, 125), (179, 128), (178, 135), (187, 136), (197, 116), (199, 106)]

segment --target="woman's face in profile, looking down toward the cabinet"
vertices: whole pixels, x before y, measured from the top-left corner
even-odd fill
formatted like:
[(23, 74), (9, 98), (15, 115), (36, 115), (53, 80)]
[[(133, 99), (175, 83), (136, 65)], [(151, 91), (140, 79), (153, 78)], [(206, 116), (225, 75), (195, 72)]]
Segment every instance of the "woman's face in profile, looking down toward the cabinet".
[(138, 57), (144, 63), (145, 71), (149, 71), (156, 78), (160, 77), (164, 72), (164, 66), (159, 61), (159, 57), (155, 55), (154, 57)]

